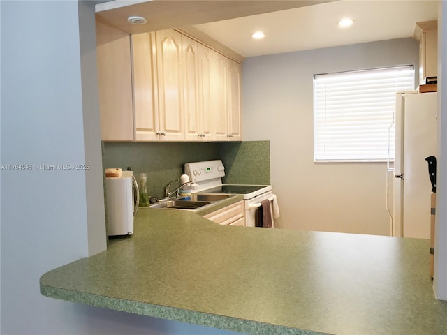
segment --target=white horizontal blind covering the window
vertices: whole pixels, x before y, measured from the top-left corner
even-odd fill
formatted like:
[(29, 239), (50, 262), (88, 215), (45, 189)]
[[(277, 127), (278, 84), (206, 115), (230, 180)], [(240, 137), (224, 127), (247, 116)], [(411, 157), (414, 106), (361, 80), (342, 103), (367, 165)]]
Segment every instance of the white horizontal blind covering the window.
[(315, 75), (314, 160), (386, 161), (395, 94), (413, 84), (413, 66)]

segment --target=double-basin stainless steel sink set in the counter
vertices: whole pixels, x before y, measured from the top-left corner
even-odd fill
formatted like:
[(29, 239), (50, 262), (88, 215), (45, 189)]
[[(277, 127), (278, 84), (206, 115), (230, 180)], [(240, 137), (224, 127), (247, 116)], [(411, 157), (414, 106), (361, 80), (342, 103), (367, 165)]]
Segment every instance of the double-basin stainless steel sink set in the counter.
[(194, 210), (233, 196), (233, 194), (191, 194), (187, 197), (179, 197), (152, 204), (150, 208)]

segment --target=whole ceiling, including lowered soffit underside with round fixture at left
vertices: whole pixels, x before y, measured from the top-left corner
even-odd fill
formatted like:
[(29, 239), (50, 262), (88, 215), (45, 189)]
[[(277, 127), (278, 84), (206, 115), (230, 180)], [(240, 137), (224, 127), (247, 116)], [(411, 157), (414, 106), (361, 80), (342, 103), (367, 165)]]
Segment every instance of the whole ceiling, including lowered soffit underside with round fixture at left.
[[(96, 5), (98, 20), (129, 34), (192, 28), (242, 57), (412, 37), (416, 22), (437, 20), (430, 0), (115, 0)], [(145, 25), (127, 22), (141, 15)], [(354, 24), (337, 22), (351, 17)], [(254, 31), (265, 32), (253, 40)]]

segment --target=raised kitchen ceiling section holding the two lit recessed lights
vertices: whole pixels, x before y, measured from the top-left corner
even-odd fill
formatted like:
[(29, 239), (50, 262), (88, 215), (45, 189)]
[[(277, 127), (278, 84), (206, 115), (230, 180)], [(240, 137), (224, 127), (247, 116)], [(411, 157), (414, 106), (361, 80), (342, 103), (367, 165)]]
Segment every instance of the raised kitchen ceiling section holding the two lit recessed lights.
[[(244, 57), (412, 37), (416, 22), (437, 20), (439, 1), (341, 0), (194, 27)], [(351, 17), (348, 28), (337, 26)], [(264, 31), (254, 40), (254, 31)]]

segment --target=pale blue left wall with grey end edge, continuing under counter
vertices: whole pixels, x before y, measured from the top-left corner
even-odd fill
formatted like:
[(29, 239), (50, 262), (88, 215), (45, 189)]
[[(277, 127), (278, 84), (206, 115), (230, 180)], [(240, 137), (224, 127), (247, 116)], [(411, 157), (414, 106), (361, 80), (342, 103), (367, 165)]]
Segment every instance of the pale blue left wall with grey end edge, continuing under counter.
[(89, 1), (80, 8), (77, 1), (0, 1), (1, 164), (92, 165), (87, 173), (1, 170), (0, 332), (235, 334), (39, 292), (46, 271), (101, 251), (105, 244), (93, 6)]

